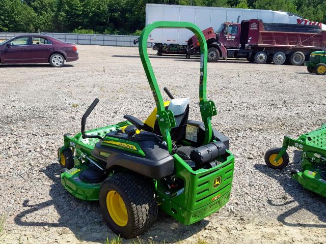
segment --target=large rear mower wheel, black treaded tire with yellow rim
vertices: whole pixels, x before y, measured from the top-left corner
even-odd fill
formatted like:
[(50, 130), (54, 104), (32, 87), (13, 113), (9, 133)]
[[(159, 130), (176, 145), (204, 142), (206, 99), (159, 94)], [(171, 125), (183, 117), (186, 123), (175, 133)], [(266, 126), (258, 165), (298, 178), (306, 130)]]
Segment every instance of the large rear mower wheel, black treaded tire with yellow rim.
[(151, 179), (122, 172), (109, 176), (100, 189), (100, 209), (105, 222), (116, 234), (136, 237), (157, 218), (157, 203)]

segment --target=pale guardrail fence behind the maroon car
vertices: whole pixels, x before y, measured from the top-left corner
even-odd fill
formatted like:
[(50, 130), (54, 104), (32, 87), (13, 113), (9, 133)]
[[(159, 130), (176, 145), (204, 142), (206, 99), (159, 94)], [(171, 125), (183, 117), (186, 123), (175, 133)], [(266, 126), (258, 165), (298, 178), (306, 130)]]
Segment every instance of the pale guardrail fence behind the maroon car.
[[(20, 35), (38, 35), (37, 33), (0, 33), (0, 40), (8, 40)], [(71, 34), (71, 33), (40, 33), (40, 35), (58, 38), (64, 42), (73, 42), (85, 45), (138, 47), (133, 40), (139, 36), (99, 35), (99, 34)], [(151, 43), (147, 43), (150, 47)]]

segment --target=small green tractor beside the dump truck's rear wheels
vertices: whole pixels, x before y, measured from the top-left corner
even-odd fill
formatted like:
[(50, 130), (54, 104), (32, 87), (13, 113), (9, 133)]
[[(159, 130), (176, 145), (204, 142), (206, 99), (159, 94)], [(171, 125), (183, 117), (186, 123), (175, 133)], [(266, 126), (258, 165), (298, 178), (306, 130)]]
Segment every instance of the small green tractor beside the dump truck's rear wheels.
[(310, 54), (309, 61), (304, 63), (309, 73), (317, 75), (326, 74), (326, 50), (316, 51)]

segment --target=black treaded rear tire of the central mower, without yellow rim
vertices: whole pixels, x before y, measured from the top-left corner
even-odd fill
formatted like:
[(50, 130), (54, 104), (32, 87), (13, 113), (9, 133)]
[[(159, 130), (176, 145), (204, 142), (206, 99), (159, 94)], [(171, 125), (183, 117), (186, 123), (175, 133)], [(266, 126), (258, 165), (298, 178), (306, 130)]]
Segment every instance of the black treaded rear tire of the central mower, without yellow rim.
[(157, 203), (154, 199), (153, 184), (150, 180), (135, 173), (121, 172), (109, 176), (102, 182), (101, 188), (105, 184), (116, 185), (121, 188), (129, 199), (134, 223), (132, 230), (123, 235), (126, 238), (133, 238), (144, 233), (156, 222)]

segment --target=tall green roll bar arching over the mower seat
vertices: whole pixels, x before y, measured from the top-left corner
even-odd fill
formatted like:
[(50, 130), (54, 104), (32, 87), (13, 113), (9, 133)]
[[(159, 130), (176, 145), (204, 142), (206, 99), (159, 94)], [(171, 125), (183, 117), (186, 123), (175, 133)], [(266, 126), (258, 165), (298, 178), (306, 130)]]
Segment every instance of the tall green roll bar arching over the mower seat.
[(157, 21), (147, 25), (139, 38), (139, 54), (142, 64), (151, 87), (154, 100), (157, 107), (157, 122), (160, 132), (167, 142), (168, 150), (172, 151), (171, 128), (175, 127), (175, 120), (172, 111), (165, 110), (164, 101), (160, 93), (152, 65), (147, 53), (147, 38), (155, 28), (187, 28), (194, 32), (200, 44), (200, 75), (199, 75), (199, 106), (202, 120), (205, 124), (205, 139), (204, 144), (207, 144), (212, 139), (211, 116), (216, 115), (216, 108), (213, 101), (206, 99), (206, 79), (207, 79), (207, 44), (206, 39), (200, 28), (189, 22), (174, 22), (174, 21)]

